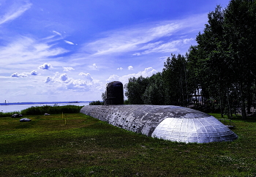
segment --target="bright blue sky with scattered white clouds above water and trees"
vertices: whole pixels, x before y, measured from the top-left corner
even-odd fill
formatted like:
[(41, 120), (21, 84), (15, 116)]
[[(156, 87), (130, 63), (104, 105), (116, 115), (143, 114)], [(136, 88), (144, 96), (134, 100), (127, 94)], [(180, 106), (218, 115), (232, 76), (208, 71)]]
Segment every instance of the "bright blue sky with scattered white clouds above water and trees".
[(0, 102), (101, 100), (162, 72), (226, 0), (0, 0)]

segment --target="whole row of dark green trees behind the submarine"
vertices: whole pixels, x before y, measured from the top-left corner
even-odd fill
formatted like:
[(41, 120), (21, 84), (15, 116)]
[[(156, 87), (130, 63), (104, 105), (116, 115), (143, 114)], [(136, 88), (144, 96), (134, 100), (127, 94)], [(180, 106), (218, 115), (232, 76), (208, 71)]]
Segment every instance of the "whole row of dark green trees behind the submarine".
[(129, 104), (193, 104), (246, 118), (256, 99), (256, 1), (218, 5), (196, 41), (185, 56), (168, 57), (162, 72), (129, 78)]

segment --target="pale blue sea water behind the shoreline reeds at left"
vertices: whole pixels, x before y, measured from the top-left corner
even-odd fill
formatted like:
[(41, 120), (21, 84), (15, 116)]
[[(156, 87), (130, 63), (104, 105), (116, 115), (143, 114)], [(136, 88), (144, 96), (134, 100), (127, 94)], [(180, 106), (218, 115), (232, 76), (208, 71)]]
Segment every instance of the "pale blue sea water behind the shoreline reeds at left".
[(28, 104), (19, 104), (19, 103), (7, 103), (5, 104), (0, 104), (0, 112), (2, 113), (7, 113), (7, 112), (14, 112), (14, 111), (20, 111), (20, 110), (25, 110), (26, 108), (30, 108), (32, 106), (44, 106), (44, 105), (59, 105), (59, 106), (64, 106), (64, 105), (77, 105), (77, 106), (84, 106), (84, 105), (89, 105), (90, 102), (42, 102), (42, 103), (28, 103)]

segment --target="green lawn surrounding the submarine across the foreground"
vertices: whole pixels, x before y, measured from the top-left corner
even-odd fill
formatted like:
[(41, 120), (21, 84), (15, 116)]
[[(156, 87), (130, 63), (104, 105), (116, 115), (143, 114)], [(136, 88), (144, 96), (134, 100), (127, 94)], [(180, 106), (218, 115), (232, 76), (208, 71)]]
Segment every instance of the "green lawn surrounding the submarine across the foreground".
[(0, 176), (256, 176), (256, 121), (233, 120), (233, 142), (185, 144), (81, 113), (26, 117), (0, 118)]

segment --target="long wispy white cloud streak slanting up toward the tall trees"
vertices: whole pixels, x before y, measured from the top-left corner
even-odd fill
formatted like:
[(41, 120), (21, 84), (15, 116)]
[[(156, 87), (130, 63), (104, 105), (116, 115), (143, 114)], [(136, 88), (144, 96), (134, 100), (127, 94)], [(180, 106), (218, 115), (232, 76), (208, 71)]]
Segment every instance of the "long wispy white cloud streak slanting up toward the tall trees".
[(86, 44), (84, 50), (89, 51), (93, 56), (127, 52), (135, 52), (134, 56), (170, 53), (193, 40), (185, 34), (203, 26), (206, 21), (204, 16), (205, 14), (182, 20), (162, 21), (157, 25), (145, 24), (143, 27), (110, 31), (106, 34), (107, 37)]

